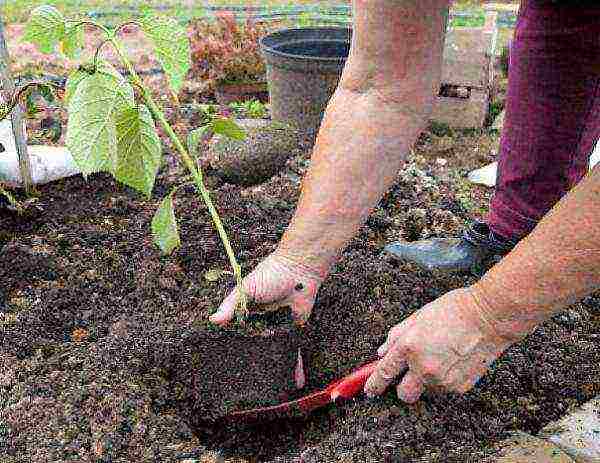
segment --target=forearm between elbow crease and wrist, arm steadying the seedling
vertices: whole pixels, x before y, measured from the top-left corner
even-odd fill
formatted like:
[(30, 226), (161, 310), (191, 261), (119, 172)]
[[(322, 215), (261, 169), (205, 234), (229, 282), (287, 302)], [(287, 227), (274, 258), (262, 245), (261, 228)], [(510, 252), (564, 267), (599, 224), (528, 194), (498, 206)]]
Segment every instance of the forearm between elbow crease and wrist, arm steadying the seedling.
[(326, 273), (394, 181), (421, 129), (420, 114), (411, 120), (372, 94), (338, 91), (279, 250)]

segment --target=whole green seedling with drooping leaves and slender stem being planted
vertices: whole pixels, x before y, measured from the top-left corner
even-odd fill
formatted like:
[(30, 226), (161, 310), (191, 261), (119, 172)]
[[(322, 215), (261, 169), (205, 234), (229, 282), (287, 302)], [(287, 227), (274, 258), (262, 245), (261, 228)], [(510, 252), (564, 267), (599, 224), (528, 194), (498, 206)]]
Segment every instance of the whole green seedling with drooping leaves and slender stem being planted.
[[(52, 53), (59, 46), (66, 56), (76, 57), (83, 49), (88, 28), (102, 33), (102, 42), (93, 58), (73, 71), (65, 86), (64, 100), (69, 114), (67, 148), (84, 178), (95, 172), (107, 172), (149, 198), (162, 158), (156, 129), (156, 124), (160, 125), (173, 143), (179, 161), (189, 171), (223, 242), (238, 284), (236, 312), (238, 320), (243, 322), (247, 309), (241, 286), (241, 267), (204, 184), (202, 170), (190, 152), (196, 150), (198, 140), (207, 130), (239, 140), (245, 138), (245, 133), (230, 119), (210, 118), (207, 125), (188, 135), (186, 148), (127, 57), (118, 38), (125, 26), (137, 26), (144, 32), (165, 71), (171, 92), (176, 95), (191, 67), (187, 32), (175, 19), (157, 15), (150, 9), (143, 10), (136, 20), (109, 29), (87, 18), (65, 18), (52, 6), (40, 6), (31, 12), (24, 39), (34, 43), (43, 53)], [(101, 59), (104, 46), (115, 50), (127, 70), (127, 78)], [(5, 108), (4, 116), (8, 113), (6, 110), (10, 108)], [(163, 199), (152, 219), (154, 241), (164, 254), (172, 253), (180, 244), (173, 206), (176, 190)]]

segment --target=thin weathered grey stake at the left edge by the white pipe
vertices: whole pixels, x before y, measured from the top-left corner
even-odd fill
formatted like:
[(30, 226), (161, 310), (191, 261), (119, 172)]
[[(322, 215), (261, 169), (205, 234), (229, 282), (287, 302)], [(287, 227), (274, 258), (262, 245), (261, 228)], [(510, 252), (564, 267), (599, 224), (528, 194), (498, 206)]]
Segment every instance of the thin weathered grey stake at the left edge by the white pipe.
[[(8, 48), (4, 38), (4, 23), (0, 17), (0, 84), (2, 85), (3, 101), (9, 101), (15, 91), (15, 83), (10, 75), (9, 63)], [(21, 180), (23, 181), (25, 191), (29, 193), (32, 186), (31, 165), (27, 154), (27, 131), (25, 129), (23, 114), (22, 106), (17, 105), (12, 111), (10, 118), (15, 135)]]

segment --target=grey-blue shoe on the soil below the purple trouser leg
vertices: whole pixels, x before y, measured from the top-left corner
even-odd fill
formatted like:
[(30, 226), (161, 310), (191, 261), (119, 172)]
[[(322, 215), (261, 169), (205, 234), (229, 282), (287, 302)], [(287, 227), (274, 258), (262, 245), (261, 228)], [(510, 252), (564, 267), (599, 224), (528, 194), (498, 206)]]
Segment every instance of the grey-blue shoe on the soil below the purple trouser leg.
[(485, 222), (475, 221), (462, 238), (433, 238), (395, 242), (383, 252), (425, 270), (468, 272), (480, 269), (490, 258), (501, 258), (517, 244), (492, 232)]

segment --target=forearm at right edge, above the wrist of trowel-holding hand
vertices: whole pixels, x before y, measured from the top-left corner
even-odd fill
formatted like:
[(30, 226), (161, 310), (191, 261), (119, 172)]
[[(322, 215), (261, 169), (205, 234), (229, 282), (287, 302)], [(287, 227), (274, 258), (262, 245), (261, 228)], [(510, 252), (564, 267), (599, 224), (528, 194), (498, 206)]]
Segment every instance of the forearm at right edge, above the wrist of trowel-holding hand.
[(498, 334), (514, 339), (598, 288), (600, 169), (473, 287)]

